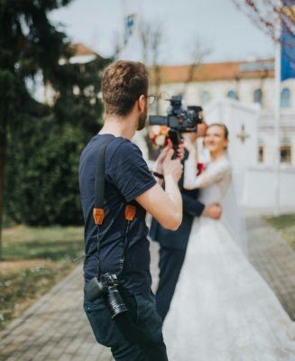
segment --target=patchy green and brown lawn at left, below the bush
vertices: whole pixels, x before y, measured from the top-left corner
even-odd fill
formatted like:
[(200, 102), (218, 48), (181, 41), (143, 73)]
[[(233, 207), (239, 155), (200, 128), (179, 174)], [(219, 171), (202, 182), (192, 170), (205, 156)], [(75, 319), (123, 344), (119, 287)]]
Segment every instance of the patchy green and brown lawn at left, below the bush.
[(10, 227), (2, 242), (0, 329), (78, 265), (83, 227)]

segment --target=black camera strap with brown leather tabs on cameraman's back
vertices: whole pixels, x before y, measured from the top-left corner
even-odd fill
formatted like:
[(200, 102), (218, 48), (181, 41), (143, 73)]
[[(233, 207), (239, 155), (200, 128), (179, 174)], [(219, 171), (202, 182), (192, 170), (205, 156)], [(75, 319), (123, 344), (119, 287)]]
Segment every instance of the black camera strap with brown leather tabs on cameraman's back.
[[(100, 279), (101, 275), (101, 260), (100, 260), (100, 229), (104, 222), (105, 211), (104, 211), (104, 202), (105, 202), (105, 155), (106, 155), (106, 146), (108, 143), (112, 142), (114, 139), (107, 140), (101, 145), (97, 154), (97, 171), (95, 178), (95, 187), (94, 187), (94, 209), (93, 209), (93, 218), (97, 225), (97, 279)], [(124, 208), (124, 218), (127, 222), (124, 232), (124, 245), (123, 253), (119, 261), (119, 273), (118, 279), (120, 280), (123, 268), (124, 268), (124, 259), (127, 252), (128, 246), (128, 233), (130, 229), (130, 224), (134, 220), (136, 214), (136, 207), (131, 204), (126, 204)]]

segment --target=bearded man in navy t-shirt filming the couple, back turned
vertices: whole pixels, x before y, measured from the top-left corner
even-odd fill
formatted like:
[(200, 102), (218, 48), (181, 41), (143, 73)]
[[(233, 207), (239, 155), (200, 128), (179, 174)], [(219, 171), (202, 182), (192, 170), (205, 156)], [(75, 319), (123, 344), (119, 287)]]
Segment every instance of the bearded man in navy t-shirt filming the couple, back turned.
[[(134, 324), (124, 324), (122, 320), (126, 318), (120, 315), (112, 319), (108, 308), (114, 305), (107, 304), (106, 297), (90, 301), (85, 295), (84, 310), (97, 342), (111, 347), (115, 360), (146, 361), (153, 358), (166, 361), (162, 321), (151, 292), (145, 214), (146, 211), (151, 213), (167, 229), (176, 230), (180, 226), (182, 200), (178, 181), (182, 165), (179, 159), (171, 159), (173, 151), (170, 143), (159, 156), (157, 182), (143, 161), (139, 148), (130, 142), (135, 131), (145, 125), (151, 97), (148, 96), (148, 71), (143, 63), (120, 60), (110, 64), (103, 74), (102, 94), (105, 123), (82, 152), (79, 165), (80, 197), (85, 218), (85, 292), (91, 282), (97, 282), (99, 287), (104, 286), (107, 290), (108, 283), (103, 280), (112, 273), (108, 279), (113, 282), (116, 275), (120, 283), (113, 289), (120, 293), (128, 309), (124, 312), (123, 307), (123, 314), (127, 314)], [(92, 212), (97, 153), (103, 144), (106, 144), (105, 219), (97, 233)], [(161, 178), (165, 181), (165, 191), (159, 184)], [(127, 204), (136, 211), (131, 222), (124, 219)], [(97, 273), (102, 275), (100, 280)], [(124, 305), (118, 304), (119, 307)], [(117, 320), (123, 323), (119, 324)], [(130, 334), (128, 329), (131, 329)], [(137, 335), (134, 335), (134, 329), (138, 330)], [(135, 338), (136, 341), (133, 341)]]

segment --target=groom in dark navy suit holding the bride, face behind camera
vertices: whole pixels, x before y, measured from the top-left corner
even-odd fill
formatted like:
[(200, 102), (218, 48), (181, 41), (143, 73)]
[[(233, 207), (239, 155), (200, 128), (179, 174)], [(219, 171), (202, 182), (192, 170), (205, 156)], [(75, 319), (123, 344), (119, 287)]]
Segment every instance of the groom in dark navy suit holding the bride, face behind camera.
[[(206, 130), (207, 124), (203, 121), (201, 125), (198, 125), (197, 133), (186, 133), (183, 135), (186, 142), (195, 143), (198, 137), (205, 135)], [(185, 149), (183, 162), (188, 156), (189, 152)], [(151, 238), (160, 244), (160, 276), (156, 292), (156, 307), (162, 320), (165, 319), (168, 313), (176, 283), (179, 279), (193, 219), (200, 216), (214, 219), (221, 217), (221, 207), (219, 204), (212, 203), (205, 206), (198, 201), (198, 190), (185, 190), (183, 188), (183, 174), (184, 171), (179, 182), (183, 202), (183, 218), (180, 227), (177, 231), (170, 231), (161, 227), (152, 218), (150, 230)]]

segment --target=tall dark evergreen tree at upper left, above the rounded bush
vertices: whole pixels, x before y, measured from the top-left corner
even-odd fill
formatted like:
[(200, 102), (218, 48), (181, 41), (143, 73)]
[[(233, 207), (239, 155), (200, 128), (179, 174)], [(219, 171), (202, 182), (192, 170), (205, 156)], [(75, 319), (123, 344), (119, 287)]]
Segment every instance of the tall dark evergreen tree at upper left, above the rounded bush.
[[(97, 57), (87, 65), (70, 64), (69, 39), (48, 17), (49, 12), (69, 3), (0, 0), (0, 237), (8, 142), (23, 142), (25, 147), (27, 125), (33, 131), (32, 125), (40, 122), (43, 126), (46, 122), (71, 123), (85, 132), (97, 128), (101, 104), (97, 99), (99, 77), (94, 78), (94, 73), (97, 75), (106, 60)], [(53, 106), (39, 104), (28, 90), (28, 79), (40, 73), (44, 84), (56, 91)]]

